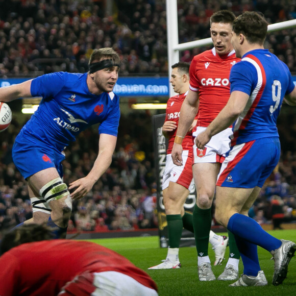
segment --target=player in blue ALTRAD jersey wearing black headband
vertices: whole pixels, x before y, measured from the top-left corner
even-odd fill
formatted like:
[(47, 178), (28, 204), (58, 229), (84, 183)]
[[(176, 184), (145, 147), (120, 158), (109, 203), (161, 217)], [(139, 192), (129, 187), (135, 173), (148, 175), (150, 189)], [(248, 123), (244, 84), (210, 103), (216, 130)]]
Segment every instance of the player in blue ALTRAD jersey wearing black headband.
[[(119, 97), (112, 92), (120, 59), (112, 48), (94, 50), (87, 73), (55, 72), (0, 88), (0, 101), (41, 96), (37, 111), (15, 139), (15, 166), (28, 181), (33, 218), (65, 236), (72, 200), (79, 200), (111, 164), (120, 117)], [(61, 162), (70, 141), (88, 127), (100, 124), (98, 155), (89, 174), (67, 187)], [(71, 193), (70, 193), (71, 191)]]

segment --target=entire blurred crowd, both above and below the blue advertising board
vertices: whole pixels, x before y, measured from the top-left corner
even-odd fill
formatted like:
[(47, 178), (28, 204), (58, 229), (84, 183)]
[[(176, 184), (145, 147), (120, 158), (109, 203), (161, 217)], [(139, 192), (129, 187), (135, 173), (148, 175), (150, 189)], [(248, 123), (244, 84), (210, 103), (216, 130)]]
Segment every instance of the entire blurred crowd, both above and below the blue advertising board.
[[(108, 1), (108, 0), (107, 0)], [(0, 0), (0, 77), (36, 77), (52, 71), (85, 72), (93, 48), (113, 47), (119, 75), (167, 76), (165, 0)], [(296, 2), (178, 0), (179, 42), (210, 37), (209, 18), (219, 9), (236, 15), (264, 13), (269, 23), (296, 18)], [(180, 55), (182, 61), (209, 47)], [(269, 48), (296, 72), (296, 29), (268, 34)], [(274, 228), (296, 220), (296, 116), (283, 106), (279, 118), (282, 157), (262, 188), (250, 216)], [(285, 109), (287, 109), (285, 111)], [(86, 198), (74, 202), (69, 231), (136, 230), (157, 227), (156, 171), (148, 113), (122, 114), (110, 169)], [(0, 230), (32, 216), (26, 182), (11, 148), (21, 125), (0, 134)], [(87, 174), (97, 155), (97, 129), (83, 132), (65, 151), (64, 181)]]

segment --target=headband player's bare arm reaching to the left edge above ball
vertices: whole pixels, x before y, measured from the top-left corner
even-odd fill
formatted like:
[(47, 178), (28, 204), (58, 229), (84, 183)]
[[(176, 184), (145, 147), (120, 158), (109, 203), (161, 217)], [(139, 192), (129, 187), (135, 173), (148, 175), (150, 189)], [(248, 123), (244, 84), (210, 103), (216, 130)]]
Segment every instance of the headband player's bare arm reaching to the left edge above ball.
[(0, 88), (0, 102), (10, 102), (20, 97), (30, 97), (31, 80)]

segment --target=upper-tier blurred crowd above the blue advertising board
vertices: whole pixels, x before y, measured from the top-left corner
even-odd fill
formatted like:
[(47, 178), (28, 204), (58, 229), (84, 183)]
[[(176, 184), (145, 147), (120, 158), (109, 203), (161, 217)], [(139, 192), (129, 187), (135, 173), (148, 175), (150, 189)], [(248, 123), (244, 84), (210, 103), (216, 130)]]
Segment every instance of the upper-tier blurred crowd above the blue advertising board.
[[(167, 75), (165, 0), (0, 0), (0, 77), (85, 72), (93, 48), (113, 47), (120, 76)], [(294, 1), (178, 0), (179, 43), (210, 37), (210, 16), (262, 12), (269, 23), (296, 17)], [(269, 48), (296, 71), (296, 29), (268, 34)], [(208, 47), (184, 51), (181, 60)]]

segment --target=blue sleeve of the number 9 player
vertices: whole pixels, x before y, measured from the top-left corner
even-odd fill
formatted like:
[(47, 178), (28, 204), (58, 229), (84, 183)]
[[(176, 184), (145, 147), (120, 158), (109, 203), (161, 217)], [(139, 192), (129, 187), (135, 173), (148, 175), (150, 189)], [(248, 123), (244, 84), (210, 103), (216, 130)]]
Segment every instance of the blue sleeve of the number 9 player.
[(230, 71), (230, 93), (238, 90), (251, 95), (253, 86), (257, 84), (257, 80), (255, 67), (249, 62), (240, 61)]

